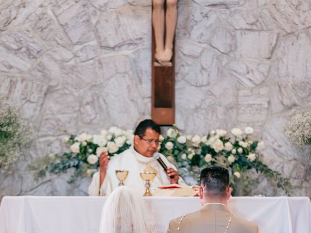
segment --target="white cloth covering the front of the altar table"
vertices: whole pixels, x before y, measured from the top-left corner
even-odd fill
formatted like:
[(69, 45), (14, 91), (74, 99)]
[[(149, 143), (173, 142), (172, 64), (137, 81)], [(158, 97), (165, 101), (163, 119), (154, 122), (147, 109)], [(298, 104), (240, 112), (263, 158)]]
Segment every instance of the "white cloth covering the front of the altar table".
[[(159, 233), (171, 219), (201, 208), (197, 197), (148, 197)], [(98, 233), (106, 197), (4, 197), (0, 233)], [(233, 197), (228, 208), (259, 225), (260, 233), (311, 233), (307, 197)]]

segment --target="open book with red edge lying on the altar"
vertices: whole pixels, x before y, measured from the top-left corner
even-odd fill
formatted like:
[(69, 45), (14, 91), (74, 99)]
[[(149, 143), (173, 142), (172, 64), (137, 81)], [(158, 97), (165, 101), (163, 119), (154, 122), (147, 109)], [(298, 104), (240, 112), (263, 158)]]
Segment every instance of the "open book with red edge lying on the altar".
[(198, 194), (198, 190), (194, 186), (182, 186), (177, 183), (158, 186), (153, 191), (154, 196), (169, 197), (193, 197)]

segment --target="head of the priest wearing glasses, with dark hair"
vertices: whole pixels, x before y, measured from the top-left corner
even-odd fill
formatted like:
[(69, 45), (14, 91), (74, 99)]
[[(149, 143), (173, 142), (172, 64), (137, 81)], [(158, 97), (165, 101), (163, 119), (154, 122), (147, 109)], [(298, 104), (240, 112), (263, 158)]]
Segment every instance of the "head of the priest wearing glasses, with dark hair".
[(152, 157), (159, 145), (160, 127), (154, 121), (141, 121), (134, 133), (135, 150), (146, 157)]

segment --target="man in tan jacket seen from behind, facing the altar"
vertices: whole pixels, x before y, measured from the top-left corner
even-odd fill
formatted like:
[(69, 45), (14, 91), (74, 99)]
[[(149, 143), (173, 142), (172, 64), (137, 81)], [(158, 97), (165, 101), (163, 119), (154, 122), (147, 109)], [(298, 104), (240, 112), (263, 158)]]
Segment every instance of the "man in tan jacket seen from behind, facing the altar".
[(199, 197), (203, 207), (171, 220), (167, 233), (258, 233), (256, 223), (236, 216), (226, 206), (231, 194), (227, 169), (204, 168), (200, 181)]

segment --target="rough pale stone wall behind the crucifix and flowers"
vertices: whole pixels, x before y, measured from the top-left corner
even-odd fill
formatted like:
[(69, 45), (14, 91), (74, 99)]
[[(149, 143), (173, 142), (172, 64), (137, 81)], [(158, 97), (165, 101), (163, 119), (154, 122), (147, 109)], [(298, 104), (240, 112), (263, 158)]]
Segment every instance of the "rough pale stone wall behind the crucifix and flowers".
[[(178, 14), (178, 128), (254, 127), (262, 160), (291, 179), (292, 195), (311, 196), (310, 151), (282, 132), (311, 102), (310, 0), (179, 0)], [(149, 118), (150, 64), (151, 0), (2, 0), (0, 95), (36, 133), (16, 171), (0, 174), (0, 196), (86, 195), (89, 179), (34, 182), (27, 164), (68, 150), (62, 128), (98, 133)], [(256, 192), (284, 194), (265, 185)]]

